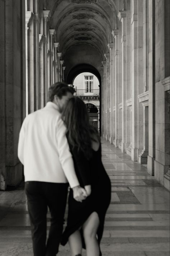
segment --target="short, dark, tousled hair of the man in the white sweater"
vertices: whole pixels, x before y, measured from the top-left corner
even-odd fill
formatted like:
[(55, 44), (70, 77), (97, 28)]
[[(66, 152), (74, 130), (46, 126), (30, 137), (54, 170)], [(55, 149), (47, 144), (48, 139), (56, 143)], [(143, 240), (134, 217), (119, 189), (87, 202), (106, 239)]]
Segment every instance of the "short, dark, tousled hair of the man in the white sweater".
[(53, 101), (55, 95), (61, 99), (62, 96), (67, 94), (67, 92), (71, 92), (73, 94), (75, 89), (66, 83), (57, 82), (51, 85), (48, 89), (48, 101)]

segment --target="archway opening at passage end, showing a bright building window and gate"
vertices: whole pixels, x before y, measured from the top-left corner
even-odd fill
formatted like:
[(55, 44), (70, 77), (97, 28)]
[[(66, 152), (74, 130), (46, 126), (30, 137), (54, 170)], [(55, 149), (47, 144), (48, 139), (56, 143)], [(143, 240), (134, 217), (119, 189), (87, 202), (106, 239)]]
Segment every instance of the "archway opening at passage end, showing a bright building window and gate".
[(87, 64), (73, 67), (67, 75), (67, 84), (76, 90), (88, 109), (89, 121), (101, 136), (101, 77), (99, 71)]

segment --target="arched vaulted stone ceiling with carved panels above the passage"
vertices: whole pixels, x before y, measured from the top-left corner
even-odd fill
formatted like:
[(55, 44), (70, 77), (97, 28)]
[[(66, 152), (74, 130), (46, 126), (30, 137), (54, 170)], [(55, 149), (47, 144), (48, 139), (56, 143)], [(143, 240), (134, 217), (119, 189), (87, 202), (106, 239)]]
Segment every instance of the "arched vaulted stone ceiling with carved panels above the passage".
[[(101, 61), (108, 52), (107, 45), (113, 41), (112, 30), (118, 29), (117, 15), (119, 10), (123, 9), (123, 1), (48, 1), (51, 13), (50, 27), (56, 31), (55, 41), (59, 43), (59, 51), (62, 52), (62, 59), (65, 61), (66, 75), (73, 66), (82, 63), (95, 65), (100, 72)], [(93, 53), (93, 60), (87, 57), (88, 52)], [(69, 58), (72, 58), (72, 61)]]

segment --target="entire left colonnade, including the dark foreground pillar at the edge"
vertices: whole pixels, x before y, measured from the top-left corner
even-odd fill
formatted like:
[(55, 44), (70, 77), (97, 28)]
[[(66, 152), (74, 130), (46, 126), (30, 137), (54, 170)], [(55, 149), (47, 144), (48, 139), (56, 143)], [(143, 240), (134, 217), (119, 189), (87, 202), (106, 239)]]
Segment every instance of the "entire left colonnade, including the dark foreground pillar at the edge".
[(0, 0), (0, 190), (23, 179), (17, 149), (25, 115), (44, 107), (48, 87), (63, 81), (62, 53), (44, 3)]

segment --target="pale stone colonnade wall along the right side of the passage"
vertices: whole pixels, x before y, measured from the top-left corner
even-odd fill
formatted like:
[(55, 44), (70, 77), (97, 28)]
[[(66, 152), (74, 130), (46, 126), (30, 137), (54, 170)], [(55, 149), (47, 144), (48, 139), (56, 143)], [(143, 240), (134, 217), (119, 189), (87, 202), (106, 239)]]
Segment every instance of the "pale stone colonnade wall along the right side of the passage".
[(169, 1), (127, 0), (103, 56), (102, 135), (170, 187)]

